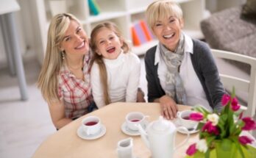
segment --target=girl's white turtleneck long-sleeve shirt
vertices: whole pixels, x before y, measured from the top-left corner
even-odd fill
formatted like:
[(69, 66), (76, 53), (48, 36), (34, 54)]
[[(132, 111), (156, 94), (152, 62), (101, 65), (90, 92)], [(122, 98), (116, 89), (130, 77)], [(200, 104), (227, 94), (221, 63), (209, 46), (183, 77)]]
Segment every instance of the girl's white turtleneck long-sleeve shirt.
[[(135, 102), (141, 75), (141, 61), (132, 53), (121, 54), (115, 60), (104, 59), (107, 69), (107, 85), (110, 101)], [(104, 107), (102, 82), (99, 65), (94, 62), (90, 71), (93, 100), (97, 107)]]

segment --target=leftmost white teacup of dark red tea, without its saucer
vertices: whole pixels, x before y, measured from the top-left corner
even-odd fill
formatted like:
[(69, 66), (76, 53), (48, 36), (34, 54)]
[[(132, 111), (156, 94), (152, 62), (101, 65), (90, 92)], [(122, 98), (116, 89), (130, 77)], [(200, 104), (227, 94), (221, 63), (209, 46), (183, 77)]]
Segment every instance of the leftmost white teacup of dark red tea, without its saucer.
[(101, 130), (101, 121), (96, 116), (88, 116), (82, 119), (82, 129), (88, 135), (97, 134)]

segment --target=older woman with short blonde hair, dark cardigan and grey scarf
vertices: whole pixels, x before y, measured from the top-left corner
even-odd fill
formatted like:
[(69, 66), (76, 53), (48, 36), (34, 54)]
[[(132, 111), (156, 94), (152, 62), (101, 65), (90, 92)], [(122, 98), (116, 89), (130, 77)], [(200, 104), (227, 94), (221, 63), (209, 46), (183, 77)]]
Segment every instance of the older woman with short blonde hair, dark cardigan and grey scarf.
[(152, 2), (146, 21), (159, 40), (145, 56), (149, 101), (160, 102), (167, 119), (177, 116), (177, 104), (220, 110), (224, 88), (216, 63), (206, 43), (182, 32), (179, 4), (171, 0)]

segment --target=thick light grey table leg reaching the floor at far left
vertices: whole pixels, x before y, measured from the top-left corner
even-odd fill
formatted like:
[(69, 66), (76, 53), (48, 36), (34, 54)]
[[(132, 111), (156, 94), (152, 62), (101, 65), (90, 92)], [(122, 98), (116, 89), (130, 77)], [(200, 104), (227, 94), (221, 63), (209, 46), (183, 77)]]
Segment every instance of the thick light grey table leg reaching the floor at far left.
[(24, 66), (21, 58), (21, 50), (19, 49), (18, 43), (18, 32), (15, 28), (14, 14), (10, 12), (4, 14), (5, 21), (10, 31), (10, 43), (12, 44), (11, 49), (13, 53), (13, 60), (15, 62), (15, 70), (18, 77), (18, 85), (20, 87), (21, 100), (26, 101), (28, 97), (28, 90), (26, 86), (26, 78), (24, 73)]

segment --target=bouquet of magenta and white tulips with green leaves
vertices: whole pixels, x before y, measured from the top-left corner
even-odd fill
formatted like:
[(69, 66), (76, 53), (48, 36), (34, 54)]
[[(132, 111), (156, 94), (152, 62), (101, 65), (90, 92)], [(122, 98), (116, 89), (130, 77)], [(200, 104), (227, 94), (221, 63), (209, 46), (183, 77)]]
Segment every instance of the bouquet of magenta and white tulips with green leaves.
[(255, 157), (256, 149), (248, 146), (252, 137), (241, 136), (242, 131), (256, 129), (256, 122), (249, 117), (243, 117), (241, 105), (232, 95), (224, 94), (221, 100), (221, 112), (208, 112), (207, 109), (196, 106), (190, 119), (199, 121), (199, 141), (191, 144), (186, 151), (187, 157)]

